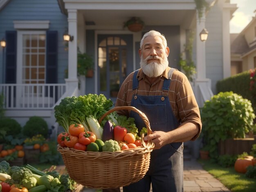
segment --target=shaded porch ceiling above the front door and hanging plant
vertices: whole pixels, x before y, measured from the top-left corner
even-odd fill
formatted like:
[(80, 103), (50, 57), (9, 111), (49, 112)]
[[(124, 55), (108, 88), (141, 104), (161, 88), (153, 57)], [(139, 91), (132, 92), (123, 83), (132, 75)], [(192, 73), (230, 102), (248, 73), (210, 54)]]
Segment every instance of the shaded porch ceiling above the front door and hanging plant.
[(123, 26), (131, 17), (140, 17), (145, 25), (181, 25), (191, 27), (195, 10), (79, 10), (85, 22), (95, 25)]

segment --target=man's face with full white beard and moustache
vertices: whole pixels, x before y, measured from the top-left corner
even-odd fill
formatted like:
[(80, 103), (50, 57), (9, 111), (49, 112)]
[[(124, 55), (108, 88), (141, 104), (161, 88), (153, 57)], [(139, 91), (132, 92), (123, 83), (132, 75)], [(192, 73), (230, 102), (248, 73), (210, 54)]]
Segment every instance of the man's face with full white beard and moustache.
[(164, 48), (162, 39), (158, 36), (148, 36), (144, 39), (142, 49), (139, 49), (140, 66), (148, 77), (161, 76), (168, 67), (167, 56), (169, 48)]

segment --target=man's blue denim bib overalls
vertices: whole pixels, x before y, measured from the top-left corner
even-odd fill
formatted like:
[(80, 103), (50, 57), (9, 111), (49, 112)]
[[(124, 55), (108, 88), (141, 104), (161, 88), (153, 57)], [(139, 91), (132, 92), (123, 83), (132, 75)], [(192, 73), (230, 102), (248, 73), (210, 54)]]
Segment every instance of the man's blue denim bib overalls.
[[(169, 79), (164, 79), (162, 95), (160, 96), (137, 95), (139, 85), (139, 80), (137, 79), (138, 70), (134, 73), (131, 106), (144, 112), (153, 132), (169, 132), (180, 125), (173, 114), (168, 98), (168, 90), (174, 70), (175, 69), (171, 68), (168, 72)], [(135, 118), (139, 132), (142, 127), (146, 127), (144, 121), (136, 112), (131, 111), (130, 117)], [(183, 191), (183, 143), (171, 143), (164, 145), (159, 150), (153, 150), (153, 152), (151, 152), (149, 170), (144, 178), (123, 189), (124, 192), (149, 192), (151, 182), (153, 192)]]

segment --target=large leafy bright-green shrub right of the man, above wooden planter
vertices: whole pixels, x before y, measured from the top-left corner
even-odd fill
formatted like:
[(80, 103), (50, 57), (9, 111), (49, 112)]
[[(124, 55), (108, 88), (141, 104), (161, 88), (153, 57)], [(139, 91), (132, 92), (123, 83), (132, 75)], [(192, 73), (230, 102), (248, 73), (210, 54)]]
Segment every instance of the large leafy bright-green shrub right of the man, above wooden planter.
[(217, 159), (218, 143), (227, 138), (245, 138), (255, 118), (252, 103), (233, 92), (220, 92), (201, 108), (204, 145), (210, 146), (210, 157)]

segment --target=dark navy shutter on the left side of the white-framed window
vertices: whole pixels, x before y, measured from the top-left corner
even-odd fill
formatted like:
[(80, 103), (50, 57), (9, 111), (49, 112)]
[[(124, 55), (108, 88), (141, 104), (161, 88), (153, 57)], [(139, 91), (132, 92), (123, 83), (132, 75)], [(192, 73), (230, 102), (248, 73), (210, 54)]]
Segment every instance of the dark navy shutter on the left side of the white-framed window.
[(6, 31), (5, 83), (16, 83), (17, 31)]

